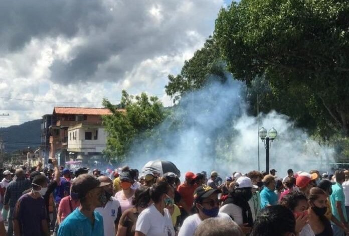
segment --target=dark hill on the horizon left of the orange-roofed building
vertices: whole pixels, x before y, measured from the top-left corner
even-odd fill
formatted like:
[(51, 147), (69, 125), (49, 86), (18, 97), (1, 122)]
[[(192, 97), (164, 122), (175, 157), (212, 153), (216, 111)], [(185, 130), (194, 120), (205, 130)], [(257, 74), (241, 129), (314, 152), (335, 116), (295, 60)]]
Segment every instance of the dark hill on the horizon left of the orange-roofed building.
[(40, 147), (41, 120), (0, 128), (0, 134), (4, 137), (5, 152), (7, 153), (28, 147), (35, 149)]

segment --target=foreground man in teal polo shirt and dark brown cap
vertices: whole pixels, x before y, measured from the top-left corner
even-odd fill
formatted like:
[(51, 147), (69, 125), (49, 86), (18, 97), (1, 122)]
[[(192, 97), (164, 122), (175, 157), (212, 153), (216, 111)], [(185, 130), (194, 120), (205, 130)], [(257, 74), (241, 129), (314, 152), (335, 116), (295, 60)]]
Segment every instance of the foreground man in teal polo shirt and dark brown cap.
[(78, 195), (80, 206), (60, 224), (58, 236), (104, 236), (103, 218), (95, 208), (104, 207), (108, 202), (101, 188), (108, 184), (89, 174), (73, 181), (71, 191)]

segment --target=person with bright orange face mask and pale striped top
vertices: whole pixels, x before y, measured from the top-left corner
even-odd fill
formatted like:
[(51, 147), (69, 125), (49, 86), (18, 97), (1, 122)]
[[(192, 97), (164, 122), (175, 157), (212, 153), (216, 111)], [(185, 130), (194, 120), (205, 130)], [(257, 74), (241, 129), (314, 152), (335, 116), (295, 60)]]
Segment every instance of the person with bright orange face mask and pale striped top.
[(132, 208), (132, 198), (134, 197), (135, 189), (132, 189), (132, 178), (129, 172), (122, 172), (119, 176), (121, 191), (115, 194), (116, 200), (120, 202), (121, 212)]

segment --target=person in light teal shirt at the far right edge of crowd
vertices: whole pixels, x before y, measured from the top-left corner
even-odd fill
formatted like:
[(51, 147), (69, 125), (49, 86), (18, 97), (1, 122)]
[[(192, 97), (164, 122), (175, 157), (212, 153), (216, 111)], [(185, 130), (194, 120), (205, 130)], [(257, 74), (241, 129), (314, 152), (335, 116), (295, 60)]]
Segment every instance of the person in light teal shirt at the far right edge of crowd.
[[(332, 215), (347, 226), (348, 220), (345, 211), (345, 196), (342, 187), (342, 183), (345, 181), (345, 174), (343, 171), (335, 171), (335, 181), (336, 183), (332, 185), (332, 194), (329, 199), (331, 201)], [(334, 236), (344, 236), (344, 230), (335, 224), (332, 224), (333, 235)]]

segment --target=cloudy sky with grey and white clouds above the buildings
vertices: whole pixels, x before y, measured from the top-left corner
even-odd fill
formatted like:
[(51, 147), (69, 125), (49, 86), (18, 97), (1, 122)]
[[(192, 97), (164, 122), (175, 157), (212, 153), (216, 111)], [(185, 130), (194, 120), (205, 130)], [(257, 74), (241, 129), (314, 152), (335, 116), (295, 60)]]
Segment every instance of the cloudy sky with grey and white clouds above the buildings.
[[(0, 127), (164, 85), (213, 33), (224, 0), (0, 1)], [(11, 99), (10, 99), (11, 98)]]

